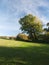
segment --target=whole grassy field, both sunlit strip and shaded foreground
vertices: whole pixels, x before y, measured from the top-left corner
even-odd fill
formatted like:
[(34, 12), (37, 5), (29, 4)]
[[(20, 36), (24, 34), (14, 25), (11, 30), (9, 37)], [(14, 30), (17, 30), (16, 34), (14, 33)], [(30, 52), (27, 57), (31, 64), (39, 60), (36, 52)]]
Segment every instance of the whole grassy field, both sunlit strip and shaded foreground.
[(49, 44), (0, 39), (0, 65), (49, 65)]

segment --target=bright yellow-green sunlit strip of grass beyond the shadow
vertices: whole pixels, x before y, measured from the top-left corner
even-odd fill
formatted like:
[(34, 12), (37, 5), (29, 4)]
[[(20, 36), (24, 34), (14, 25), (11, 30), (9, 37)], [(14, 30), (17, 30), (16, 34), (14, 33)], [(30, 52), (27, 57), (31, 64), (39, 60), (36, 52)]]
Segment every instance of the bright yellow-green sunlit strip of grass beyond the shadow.
[(45, 45), (46, 44), (0, 39), (0, 46), (5, 47), (30, 47), (30, 46), (45, 46)]

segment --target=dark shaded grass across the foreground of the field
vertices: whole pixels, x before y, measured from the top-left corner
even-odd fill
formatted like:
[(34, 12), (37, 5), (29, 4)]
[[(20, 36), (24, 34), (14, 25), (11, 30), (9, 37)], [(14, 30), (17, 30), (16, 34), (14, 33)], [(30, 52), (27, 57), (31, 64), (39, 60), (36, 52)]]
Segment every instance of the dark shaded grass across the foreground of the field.
[(0, 47), (0, 65), (49, 65), (49, 47)]

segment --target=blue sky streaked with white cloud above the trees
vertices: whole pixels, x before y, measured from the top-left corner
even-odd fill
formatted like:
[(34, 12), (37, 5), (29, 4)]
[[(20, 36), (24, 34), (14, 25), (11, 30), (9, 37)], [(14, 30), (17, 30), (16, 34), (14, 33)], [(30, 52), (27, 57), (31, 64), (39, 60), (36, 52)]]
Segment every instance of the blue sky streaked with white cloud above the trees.
[(0, 35), (15, 36), (20, 33), (19, 19), (26, 14), (49, 22), (49, 0), (0, 0)]

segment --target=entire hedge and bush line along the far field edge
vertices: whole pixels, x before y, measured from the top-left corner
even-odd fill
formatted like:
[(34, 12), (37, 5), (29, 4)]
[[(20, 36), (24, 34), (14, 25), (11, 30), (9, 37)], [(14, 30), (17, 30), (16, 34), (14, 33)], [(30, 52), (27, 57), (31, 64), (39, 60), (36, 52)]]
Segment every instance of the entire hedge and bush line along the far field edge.
[(0, 39), (7, 39), (7, 40), (19, 40), (19, 41), (31, 41), (31, 42), (43, 42), (49, 43), (49, 33), (41, 34), (37, 36), (38, 40), (34, 39), (34, 35), (32, 40), (29, 38), (29, 35), (19, 33), (17, 36), (0, 36)]

